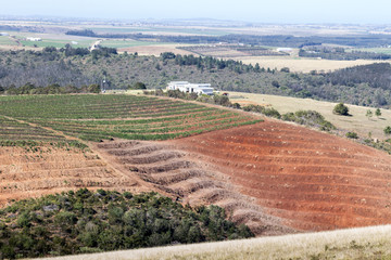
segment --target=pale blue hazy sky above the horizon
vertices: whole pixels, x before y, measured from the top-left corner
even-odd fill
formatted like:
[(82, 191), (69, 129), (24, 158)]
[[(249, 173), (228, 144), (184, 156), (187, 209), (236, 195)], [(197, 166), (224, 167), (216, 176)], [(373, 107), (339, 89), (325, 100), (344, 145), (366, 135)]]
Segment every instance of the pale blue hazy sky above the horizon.
[(390, 0), (0, 0), (0, 14), (391, 24)]

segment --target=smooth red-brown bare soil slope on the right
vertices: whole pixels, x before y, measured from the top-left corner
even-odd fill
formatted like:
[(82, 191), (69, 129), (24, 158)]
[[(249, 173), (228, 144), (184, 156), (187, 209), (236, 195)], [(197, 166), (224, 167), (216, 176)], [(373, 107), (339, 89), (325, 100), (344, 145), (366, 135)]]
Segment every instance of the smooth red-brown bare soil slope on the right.
[(391, 156), (370, 147), (270, 120), (169, 143), (294, 230), (391, 222)]

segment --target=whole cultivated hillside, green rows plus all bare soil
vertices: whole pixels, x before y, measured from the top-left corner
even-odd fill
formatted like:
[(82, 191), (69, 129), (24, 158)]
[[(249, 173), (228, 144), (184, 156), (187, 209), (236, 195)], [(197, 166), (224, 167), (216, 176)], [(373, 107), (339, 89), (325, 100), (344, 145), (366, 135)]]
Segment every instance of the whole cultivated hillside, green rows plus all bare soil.
[[(257, 235), (390, 223), (391, 157), (327, 133), (136, 95), (5, 96), (0, 115), (2, 143), (43, 142), (0, 147), (0, 204), (81, 186), (153, 190), (222, 206)], [(70, 147), (80, 139), (100, 142)]]

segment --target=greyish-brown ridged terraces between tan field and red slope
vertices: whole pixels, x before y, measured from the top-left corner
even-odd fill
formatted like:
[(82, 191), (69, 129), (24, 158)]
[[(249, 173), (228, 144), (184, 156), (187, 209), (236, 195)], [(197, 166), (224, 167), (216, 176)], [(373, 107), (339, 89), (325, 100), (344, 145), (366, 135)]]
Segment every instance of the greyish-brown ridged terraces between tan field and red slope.
[(191, 206), (217, 204), (236, 223), (244, 223), (257, 235), (294, 232), (279, 218), (268, 214), (243, 196), (227, 177), (213, 169), (198, 155), (176, 148), (172, 143), (147, 141), (106, 141), (93, 147), (109, 161), (134, 179)]

